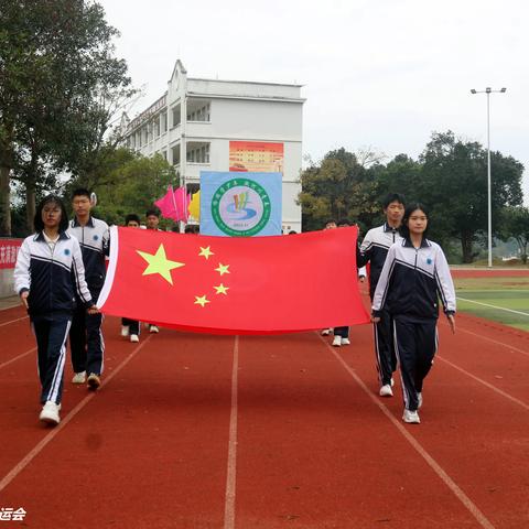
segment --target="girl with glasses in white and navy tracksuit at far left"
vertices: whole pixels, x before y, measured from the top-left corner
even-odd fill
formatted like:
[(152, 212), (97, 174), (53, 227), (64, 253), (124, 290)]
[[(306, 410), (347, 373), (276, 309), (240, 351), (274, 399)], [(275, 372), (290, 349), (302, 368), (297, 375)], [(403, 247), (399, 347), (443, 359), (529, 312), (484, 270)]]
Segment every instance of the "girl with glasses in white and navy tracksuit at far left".
[(79, 242), (66, 233), (68, 217), (60, 198), (47, 196), (39, 204), (34, 228), (35, 234), (20, 248), (14, 288), (36, 337), (43, 404), (40, 419), (58, 424), (75, 294), (90, 312), (97, 309), (86, 285)]

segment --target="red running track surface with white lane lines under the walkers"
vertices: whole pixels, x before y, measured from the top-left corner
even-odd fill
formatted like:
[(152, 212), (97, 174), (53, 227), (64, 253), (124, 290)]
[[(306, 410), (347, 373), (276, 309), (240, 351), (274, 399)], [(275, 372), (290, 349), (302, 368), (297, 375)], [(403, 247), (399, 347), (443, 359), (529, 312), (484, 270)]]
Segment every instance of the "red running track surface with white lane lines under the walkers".
[(404, 425), (399, 380), (376, 395), (367, 325), (341, 349), (166, 330), (138, 346), (109, 319), (104, 387), (68, 366), (53, 430), (23, 316), (0, 312), (0, 507), (28, 515), (0, 529), (529, 526), (528, 333), (441, 322), (422, 423)]

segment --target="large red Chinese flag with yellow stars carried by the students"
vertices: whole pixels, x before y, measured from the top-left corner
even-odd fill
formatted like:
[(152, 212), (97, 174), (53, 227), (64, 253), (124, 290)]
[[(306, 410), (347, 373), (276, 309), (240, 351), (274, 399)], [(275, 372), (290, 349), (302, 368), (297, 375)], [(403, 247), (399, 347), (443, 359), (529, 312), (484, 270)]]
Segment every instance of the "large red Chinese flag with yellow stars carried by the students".
[(277, 237), (205, 237), (111, 228), (105, 314), (217, 334), (368, 323), (357, 228)]

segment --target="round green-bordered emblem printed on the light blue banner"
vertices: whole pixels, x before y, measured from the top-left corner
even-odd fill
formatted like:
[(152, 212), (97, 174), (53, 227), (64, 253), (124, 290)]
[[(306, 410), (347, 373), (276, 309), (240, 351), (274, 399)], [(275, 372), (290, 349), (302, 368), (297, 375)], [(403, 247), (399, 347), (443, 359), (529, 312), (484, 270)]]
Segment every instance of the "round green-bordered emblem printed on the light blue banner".
[(212, 217), (218, 229), (230, 236), (252, 236), (270, 219), (271, 201), (267, 191), (250, 179), (233, 179), (213, 195)]

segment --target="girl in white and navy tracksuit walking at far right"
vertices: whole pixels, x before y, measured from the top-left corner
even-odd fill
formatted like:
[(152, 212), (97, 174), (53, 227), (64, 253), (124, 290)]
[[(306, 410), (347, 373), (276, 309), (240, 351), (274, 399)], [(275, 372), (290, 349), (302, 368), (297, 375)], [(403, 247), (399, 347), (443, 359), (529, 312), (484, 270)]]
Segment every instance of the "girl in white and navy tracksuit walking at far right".
[(384, 309), (393, 319), (404, 398), (402, 420), (419, 424), (423, 380), (438, 349), (439, 299), (455, 332), (455, 291), (443, 250), (425, 238), (425, 207), (410, 204), (402, 220), (403, 239), (388, 251), (373, 299), (373, 321), (380, 321)]

